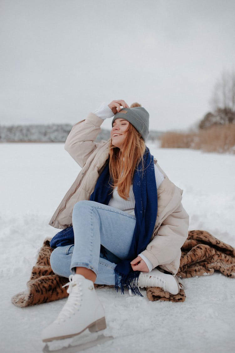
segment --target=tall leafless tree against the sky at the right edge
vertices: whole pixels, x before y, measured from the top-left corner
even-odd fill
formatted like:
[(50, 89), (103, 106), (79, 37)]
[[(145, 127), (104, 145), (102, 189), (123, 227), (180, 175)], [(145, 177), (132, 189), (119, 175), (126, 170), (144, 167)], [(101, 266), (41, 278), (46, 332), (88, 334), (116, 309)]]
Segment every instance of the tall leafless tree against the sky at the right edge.
[(234, 112), (235, 110), (235, 72), (223, 71), (217, 80), (211, 98), (214, 111), (218, 109), (224, 112)]

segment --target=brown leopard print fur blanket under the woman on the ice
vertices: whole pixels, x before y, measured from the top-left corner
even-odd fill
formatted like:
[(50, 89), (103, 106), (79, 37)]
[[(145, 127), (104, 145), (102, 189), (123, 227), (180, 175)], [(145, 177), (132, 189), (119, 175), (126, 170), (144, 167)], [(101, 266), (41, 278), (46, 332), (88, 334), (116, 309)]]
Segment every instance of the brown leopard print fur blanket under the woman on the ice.
[[(235, 277), (235, 249), (206, 231), (189, 231), (181, 251), (178, 277), (212, 275), (215, 270), (227, 277)], [(55, 275), (50, 267), (51, 252), (52, 249), (47, 239), (44, 241), (37, 262), (32, 268), (26, 291), (12, 297), (14, 305), (26, 307), (68, 296), (66, 288), (62, 288), (68, 279)], [(105, 286), (95, 285), (95, 287)], [(147, 297), (151, 301), (183, 302), (186, 298), (184, 289), (180, 289), (177, 295), (164, 292), (159, 287), (146, 288), (146, 291)]]

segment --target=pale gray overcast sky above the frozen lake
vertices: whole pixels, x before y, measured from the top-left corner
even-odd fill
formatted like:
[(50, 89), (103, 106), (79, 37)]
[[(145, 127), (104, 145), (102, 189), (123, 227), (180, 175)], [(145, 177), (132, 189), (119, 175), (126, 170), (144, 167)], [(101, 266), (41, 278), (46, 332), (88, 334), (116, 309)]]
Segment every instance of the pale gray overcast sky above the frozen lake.
[(151, 130), (186, 129), (235, 70), (234, 0), (0, 0), (0, 17), (1, 125), (75, 124), (124, 99)]

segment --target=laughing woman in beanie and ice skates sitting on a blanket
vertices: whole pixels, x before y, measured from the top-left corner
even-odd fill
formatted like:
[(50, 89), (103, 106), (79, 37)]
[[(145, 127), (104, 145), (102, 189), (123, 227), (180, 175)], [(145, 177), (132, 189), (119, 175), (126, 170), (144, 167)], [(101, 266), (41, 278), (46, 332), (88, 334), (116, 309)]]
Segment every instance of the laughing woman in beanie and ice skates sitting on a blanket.
[[(95, 143), (100, 125), (111, 117), (111, 141)], [(65, 149), (82, 170), (50, 221), (64, 229), (51, 241), (56, 249), (50, 262), (56, 274), (69, 277), (69, 297), (43, 330), (43, 341), (106, 327), (93, 283), (134, 294), (153, 286), (179, 293), (175, 274), (188, 215), (181, 204), (183, 191), (145, 145), (148, 127), (149, 114), (140, 104), (129, 108), (115, 100), (76, 124), (66, 140)]]

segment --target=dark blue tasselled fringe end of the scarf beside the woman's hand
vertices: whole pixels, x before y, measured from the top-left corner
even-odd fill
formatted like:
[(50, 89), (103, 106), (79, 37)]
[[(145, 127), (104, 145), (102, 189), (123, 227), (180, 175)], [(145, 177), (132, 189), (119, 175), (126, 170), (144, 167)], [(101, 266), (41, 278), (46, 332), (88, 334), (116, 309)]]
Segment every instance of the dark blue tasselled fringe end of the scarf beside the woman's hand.
[(140, 293), (140, 289), (137, 286), (139, 275), (140, 271), (133, 271), (127, 275), (115, 272), (116, 291), (118, 292), (118, 289), (120, 288), (121, 294), (124, 294), (124, 289), (127, 288), (130, 289), (131, 293), (134, 295), (138, 294), (143, 297), (143, 295)]

